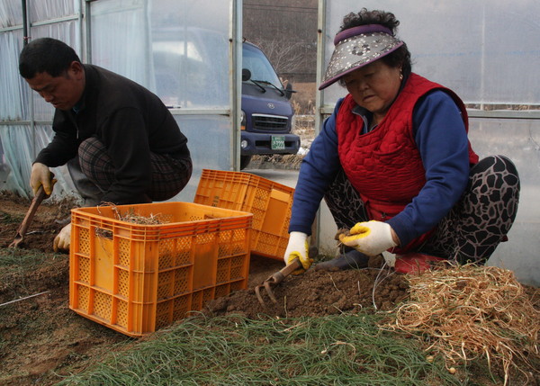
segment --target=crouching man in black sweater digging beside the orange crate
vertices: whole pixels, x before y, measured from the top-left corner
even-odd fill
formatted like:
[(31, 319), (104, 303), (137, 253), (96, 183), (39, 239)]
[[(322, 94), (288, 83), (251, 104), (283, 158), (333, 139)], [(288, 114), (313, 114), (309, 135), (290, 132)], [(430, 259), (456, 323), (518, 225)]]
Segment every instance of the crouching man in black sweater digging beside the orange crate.
[[(187, 139), (157, 95), (50, 38), (24, 47), (19, 72), (56, 109), (54, 138), (31, 168), (34, 194), (41, 185), (52, 193), (49, 167), (65, 164), (85, 205), (164, 201), (188, 183)], [(70, 232), (59, 232), (55, 251), (69, 249)]]

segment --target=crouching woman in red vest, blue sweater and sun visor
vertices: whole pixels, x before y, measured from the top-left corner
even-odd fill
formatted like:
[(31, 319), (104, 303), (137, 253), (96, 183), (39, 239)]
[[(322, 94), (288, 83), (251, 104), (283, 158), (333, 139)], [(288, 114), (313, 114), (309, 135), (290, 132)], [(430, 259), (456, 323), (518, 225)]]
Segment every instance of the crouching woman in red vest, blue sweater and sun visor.
[[(434, 259), (485, 263), (518, 210), (519, 178), (501, 156), (479, 162), (464, 103), (411, 72), (393, 13), (349, 13), (320, 89), (347, 88), (304, 158), (286, 264), (311, 266), (307, 238), (322, 198), (348, 251), (318, 268), (363, 266), (383, 251), (396, 270)], [(350, 235), (349, 235), (350, 233)], [(389, 256), (385, 254), (384, 256)], [(389, 263), (393, 260), (389, 258)]]

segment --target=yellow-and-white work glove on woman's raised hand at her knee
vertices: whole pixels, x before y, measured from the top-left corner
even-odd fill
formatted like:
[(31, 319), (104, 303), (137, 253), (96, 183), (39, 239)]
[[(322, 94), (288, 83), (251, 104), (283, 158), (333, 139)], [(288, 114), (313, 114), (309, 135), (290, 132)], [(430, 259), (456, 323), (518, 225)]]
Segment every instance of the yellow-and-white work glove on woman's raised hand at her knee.
[(349, 233), (339, 235), (339, 241), (367, 256), (377, 256), (398, 245), (392, 238), (392, 227), (382, 221), (358, 222)]

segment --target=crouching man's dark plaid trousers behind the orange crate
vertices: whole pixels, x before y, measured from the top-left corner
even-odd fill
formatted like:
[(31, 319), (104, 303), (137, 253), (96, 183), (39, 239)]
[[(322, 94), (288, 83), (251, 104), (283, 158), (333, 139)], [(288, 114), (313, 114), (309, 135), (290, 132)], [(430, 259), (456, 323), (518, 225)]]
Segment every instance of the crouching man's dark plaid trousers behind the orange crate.
[[(191, 159), (175, 159), (168, 155), (150, 153), (151, 184), (143, 197), (133, 202), (165, 201), (184, 189), (192, 175)], [(112, 159), (100, 139), (85, 139), (78, 148), (78, 157), (67, 163), (77, 190), (87, 205), (97, 205), (100, 196), (115, 179)]]

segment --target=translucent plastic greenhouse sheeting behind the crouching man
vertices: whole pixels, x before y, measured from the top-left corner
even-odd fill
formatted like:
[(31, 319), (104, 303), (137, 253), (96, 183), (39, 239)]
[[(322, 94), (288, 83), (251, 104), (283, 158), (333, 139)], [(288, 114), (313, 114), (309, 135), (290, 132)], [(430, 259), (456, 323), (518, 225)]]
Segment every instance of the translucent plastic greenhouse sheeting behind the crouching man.
[[(233, 2), (29, 0), (28, 34), (31, 39), (49, 36), (65, 41), (83, 62), (129, 77), (174, 108), (175, 120), (193, 155), (192, 180), (196, 180), (202, 167), (226, 170), (233, 164), (230, 76), (234, 62), (229, 42), (235, 24)], [(79, 8), (81, 4), (89, 8), (89, 19), (83, 17), (86, 10)], [(54, 109), (19, 76), (22, 49), (22, 1), (3, 0), (0, 189), (28, 197), (31, 162), (52, 138)], [(76, 194), (65, 166), (53, 172), (58, 177), (53, 197)], [(190, 186), (175, 199), (191, 200), (194, 188)]]

